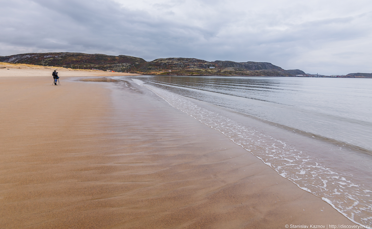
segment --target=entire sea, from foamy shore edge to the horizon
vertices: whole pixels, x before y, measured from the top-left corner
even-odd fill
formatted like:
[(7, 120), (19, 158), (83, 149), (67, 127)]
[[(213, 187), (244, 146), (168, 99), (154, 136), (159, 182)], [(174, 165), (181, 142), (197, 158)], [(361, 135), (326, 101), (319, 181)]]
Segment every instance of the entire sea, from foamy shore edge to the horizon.
[[(173, 107), (225, 134), (280, 176), (322, 198), (353, 222), (371, 225), (372, 79), (115, 79), (147, 87)], [(252, 119), (262, 125), (246, 122)], [(267, 131), (278, 127), (285, 134), (274, 136)]]

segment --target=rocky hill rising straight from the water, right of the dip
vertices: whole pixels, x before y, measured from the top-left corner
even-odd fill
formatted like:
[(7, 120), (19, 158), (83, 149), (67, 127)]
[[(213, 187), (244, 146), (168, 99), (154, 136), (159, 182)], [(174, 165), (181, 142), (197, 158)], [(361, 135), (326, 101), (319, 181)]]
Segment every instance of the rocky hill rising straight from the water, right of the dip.
[[(212, 67), (212, 68), (211, 68)], [(146, 63), (135, 71), (147, 75), (294, 76), (305, 72), (284, 70), (266, 62), (208, 62), (195, 58), (165, 58)]]

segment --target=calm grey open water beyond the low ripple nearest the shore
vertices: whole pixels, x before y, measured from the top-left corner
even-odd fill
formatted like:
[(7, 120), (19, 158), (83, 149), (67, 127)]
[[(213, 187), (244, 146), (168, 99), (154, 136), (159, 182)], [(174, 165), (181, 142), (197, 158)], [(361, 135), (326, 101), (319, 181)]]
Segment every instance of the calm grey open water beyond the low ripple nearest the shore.
[(151, 76), (143, 80), (176, 94), (372, 151), (371, 79)]

